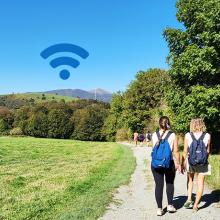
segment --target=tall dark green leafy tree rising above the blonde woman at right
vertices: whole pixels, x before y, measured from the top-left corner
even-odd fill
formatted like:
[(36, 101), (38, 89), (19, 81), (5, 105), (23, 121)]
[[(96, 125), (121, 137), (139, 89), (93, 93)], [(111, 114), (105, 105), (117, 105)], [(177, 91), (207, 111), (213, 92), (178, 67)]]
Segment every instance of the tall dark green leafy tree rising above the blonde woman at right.
[(176, 130), (186, 132), (191, 118), (202, 117), (210, 131), (220, 132), (220, 1), (179, 0), (176, 6), (185, 29), (164, 32)]

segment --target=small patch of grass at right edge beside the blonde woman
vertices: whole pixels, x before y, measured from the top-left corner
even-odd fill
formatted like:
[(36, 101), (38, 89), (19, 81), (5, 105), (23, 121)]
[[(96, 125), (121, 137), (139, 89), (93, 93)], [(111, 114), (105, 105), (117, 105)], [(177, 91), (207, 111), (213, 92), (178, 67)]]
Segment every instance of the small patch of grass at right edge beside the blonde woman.
[(212, 166), (212, 174), (207, 176), (206, 182), (212, 188), (220, 190), (220, 155), (211, 155), (209, 163)]

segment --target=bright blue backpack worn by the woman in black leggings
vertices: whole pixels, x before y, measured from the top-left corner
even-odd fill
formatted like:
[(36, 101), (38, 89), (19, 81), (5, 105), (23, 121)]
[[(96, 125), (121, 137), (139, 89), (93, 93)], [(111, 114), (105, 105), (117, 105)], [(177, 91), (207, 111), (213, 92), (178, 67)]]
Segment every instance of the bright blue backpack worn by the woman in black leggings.
[[(159, 143), (159, 146), (155, 144), (152, 151), (152, 161), (151, 165), (154, 168), (169, 168), (170, 162), (172, 160), (172, 151), (170, 148), (170, 144), (168, 142), (168, 138), (172, 134), (171, 131), (169, 131), (164, 139), (162, 139)], [(160, 137), (159, 132), (157, 132), (158, 139)]]

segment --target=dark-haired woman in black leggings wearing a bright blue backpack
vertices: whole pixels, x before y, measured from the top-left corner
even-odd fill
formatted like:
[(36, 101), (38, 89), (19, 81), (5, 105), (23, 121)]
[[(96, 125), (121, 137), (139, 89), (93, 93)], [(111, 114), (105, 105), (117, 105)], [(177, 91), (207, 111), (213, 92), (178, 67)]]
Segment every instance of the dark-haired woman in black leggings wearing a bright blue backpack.
[[(160, 130), (154, 132), (152, 135), (154, 147), (152, 150), (151, 170), (155, 181), (155, 197), (158, 207), (157, 215), (162, 216), (164, 214), (162, 209), (164, 176), (168, 200), (167, 211), (176, 212), (176, 209), (173, 206), (174, 179), (176, 169), (180, 171), (181, 166), (177, 138), (170, 130), (169, 118), (162, 116), (159, 120), (159, 126)], [(172, 152), (176, 158), (176, 164), (174, 164)]]

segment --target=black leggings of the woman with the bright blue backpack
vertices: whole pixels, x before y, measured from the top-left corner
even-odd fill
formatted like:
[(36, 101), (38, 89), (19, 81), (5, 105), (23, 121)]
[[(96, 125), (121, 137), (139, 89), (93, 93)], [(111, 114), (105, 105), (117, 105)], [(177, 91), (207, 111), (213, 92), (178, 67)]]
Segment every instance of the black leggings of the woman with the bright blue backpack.
[(156, 185), (155, 186), (155, 197), (156, 197), (158, 208), (162, 208), (164, 175), (165, 175), (165, 180), (166, 180), (168, 205), (172, 205), (173, 194), (174, 194), (174, 179), (175, 179), (175, 174), (176, 174), (174, 162), (172, 161), (169, 169), (165, 169), (165, 168), (155, 169), (151, 166), (151, 170), (152, 170), (155, 185)]

